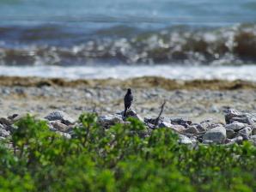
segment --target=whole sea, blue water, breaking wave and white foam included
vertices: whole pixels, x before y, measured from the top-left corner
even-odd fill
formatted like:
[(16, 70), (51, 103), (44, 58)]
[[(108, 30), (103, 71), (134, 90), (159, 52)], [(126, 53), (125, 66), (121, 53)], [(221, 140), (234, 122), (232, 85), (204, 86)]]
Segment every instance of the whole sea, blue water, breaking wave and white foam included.
[(0, 75), (256, 81), (256, 1), (0, 0)]

